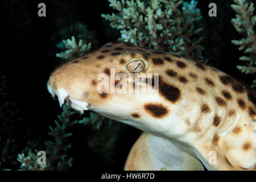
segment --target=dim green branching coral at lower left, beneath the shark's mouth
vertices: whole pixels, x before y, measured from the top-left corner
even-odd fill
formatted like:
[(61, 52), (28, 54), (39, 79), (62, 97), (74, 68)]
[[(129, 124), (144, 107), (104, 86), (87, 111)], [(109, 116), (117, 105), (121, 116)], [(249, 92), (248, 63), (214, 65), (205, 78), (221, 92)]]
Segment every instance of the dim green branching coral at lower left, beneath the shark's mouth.
[[(59, 121), (54, 121), (56, 127), (49, 126), (50, 132), (48, 135), (54, 137), (55, 140), (54, 142), (51, 140), (45, 142), (46, 165), (39, 165), (37, 163), (37, 150), (31, 152), (30, 147), (26, 147), (21, 154), (18, 154), (17, 160), (22, 163), (20, 170), (67, 170), (72, 166), (73, 159), (67, 159), (67, 150), (72, 147), (71, 143), (67, 143), (67, 138), (71, 137), (72, 133), (67, 130), (71, 129), (77, 121), (71, 121), (72, 115), (75, 114), (75, 111), (71, 110), (71, 107), (64, 104), (62, 113), (57, 115)], [(27, 153), (27, 156), (25, 156), (25, 153)]]

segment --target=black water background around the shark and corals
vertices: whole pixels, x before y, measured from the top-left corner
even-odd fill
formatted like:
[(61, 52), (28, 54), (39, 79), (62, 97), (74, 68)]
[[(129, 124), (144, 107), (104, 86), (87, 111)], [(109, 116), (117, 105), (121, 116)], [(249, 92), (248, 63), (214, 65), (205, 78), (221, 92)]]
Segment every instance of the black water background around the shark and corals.
[[(40, 2), (46, 3), (46, 17), (38, 17)], [(217, 17), (208, 16), (210, 2), (217, 4)], [(68, 9), (63, 9), (64, 3), (68, 4)], [(239, 57), (242, 56), (242, 52), (238, 51), (238, 47), (234, 46), (231, 40), (238, 40), (241, 36), (230, 23), (230, 20), (235, 18), (235, 13), (230, 7), (231, 3), (233, 1), (199, 1), (197, 7), (201, 9), (204, 22), (203, 55), (214, 67), (250, 84), (252, 78), (236, 68), (241, 64)], [(48, 126), (53, 126), (57, 114), (61, 113), (59, 103), (52, 99), (46, 88), (51, 71), (60, 63), (55, 57), (60, 51), (54, 48), (56, 43), (53, 42), (52, 36), (57, 35), (56, 32), (75, 20), (87, 24), (89, 30), (95, 31), (99, 45), (102, 46), (119, 37), (118, 34), (116, 37), (108, 36), (105, 27), (109, 23), (102, 23), (104, 18), (101, 18), (101, 14), (112, 12), (109, 2), (103, 0), (1, 1), (0, 68), (6, 75), (8, 92), (15, 96), (15, 109), (19, 110), (19, 117), (25, 123), (22, 130), (16, 131), (17, 134), (29, 132), (31, 140), (36, 138), (40, 138), (40, 142), (47, 140)], [(60, 19), (63, 20), (62, 23), (59, 23)], [(109, 28), (108, 31), (111, 29)], [(77, 118), (83, 116), (78, 114)], [(76, 126), (73, 129), (73, 137), (70, 139), (73, 147), (68, 152), (69, 156), (74, 158), (72, 170), (122, 170), (131, 146), (141, 133), (132, 127), (123, 130), (112, 155), (115, 163), (110, 163), (98, 156), (100, 152), (86, 147), (90, 131), (86, 126)], [(84, 135), (85, 133), (87, 135)], [(19, 140), (18, 153), (26, 146), (26, 139)], [(19, 165), (16, 164), (16, 169)]]

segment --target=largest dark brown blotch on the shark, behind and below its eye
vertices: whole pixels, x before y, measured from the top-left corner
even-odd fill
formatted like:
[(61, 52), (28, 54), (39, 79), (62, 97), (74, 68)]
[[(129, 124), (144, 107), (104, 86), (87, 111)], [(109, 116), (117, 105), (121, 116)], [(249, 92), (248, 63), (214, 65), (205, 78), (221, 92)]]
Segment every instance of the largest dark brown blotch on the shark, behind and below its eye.
[(161, 77), (159, 77), (159, 92), (172, 103), (179, 101), (181, 98), (180, 90), (176, 86), (166, 84)]

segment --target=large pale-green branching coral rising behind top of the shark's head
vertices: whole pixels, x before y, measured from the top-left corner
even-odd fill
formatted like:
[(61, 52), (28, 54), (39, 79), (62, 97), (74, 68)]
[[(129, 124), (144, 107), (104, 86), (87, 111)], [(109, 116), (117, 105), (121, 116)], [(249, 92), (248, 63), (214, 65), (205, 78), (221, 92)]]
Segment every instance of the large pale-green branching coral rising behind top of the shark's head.
[(119, 13), (101, 16), (120, 30), (119, 40), (203, 61), (197, 1), (108, 1)]

